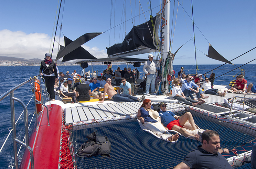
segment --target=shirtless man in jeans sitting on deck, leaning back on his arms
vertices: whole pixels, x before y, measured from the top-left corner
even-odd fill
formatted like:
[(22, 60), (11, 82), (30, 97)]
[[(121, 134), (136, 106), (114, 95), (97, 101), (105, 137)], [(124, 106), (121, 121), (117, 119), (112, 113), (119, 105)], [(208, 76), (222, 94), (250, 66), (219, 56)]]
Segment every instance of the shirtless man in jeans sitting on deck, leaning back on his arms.
[(99, 103), (104, 102), (104, 98), (106, 96), (106, 93), (108, 94), (108, 98), (116, 101), (116, 102), (142, 102), (145, 99), (145, 96), (142, 97), (134, 97), (129, 94), (118, 94), (114, 87), (111, 85), (111, 79), (108, 78), (107, 83), (104, 85), (104, 94), (103, 94), (103, 100), (99, 101)]

